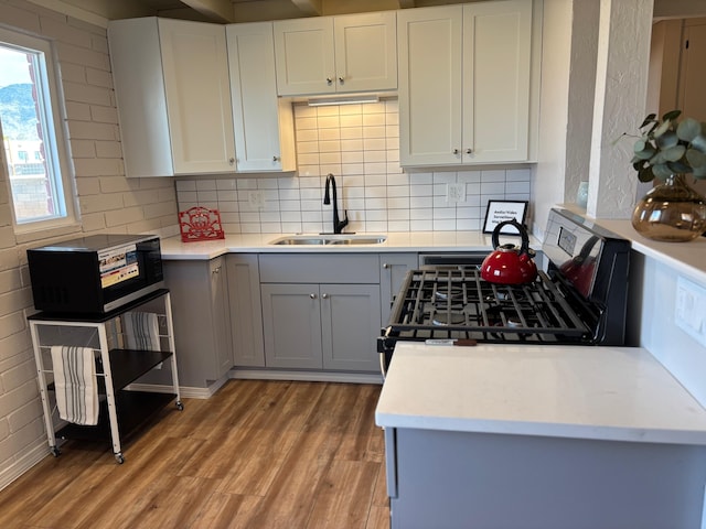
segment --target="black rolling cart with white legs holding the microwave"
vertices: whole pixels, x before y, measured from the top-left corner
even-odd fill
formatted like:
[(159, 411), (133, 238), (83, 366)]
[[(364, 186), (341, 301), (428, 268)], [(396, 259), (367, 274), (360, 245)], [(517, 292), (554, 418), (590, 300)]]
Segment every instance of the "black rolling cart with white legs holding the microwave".
[[(163, 314), (160, 315), (164, 319), (163, 327), (165, 328), (165, 334), (161, 335), (162, 326), (160, 326), (160, 342), (164, 341), (169, 346), (164, 350), (136, 350), (114, 346), (116, 342), (120, 343), (117, 338), (118, 333), (116, 333), (116, 319), (120, 319), (128, 311), (138, 310), (145, 304), (160, 299), (163, 302)], [(60, 455), (56, 439), (109, 440), (113, 442), (113, 452), (116, 461), (122, 463), (125, 457), (121, 451), (121, 441), (137, 432), (174, 399), (176, 408), (179, 410), (183, 409), (176, 378), (176, 358), (169, 290), (160, 289), (105, 314), (54, 314), (41, 312), (29, 316), (28, 320), (38, 366), (47, 442), (54, 456)], [(50, 327), (50, 332), (42, 332), (42, 327), (46, 326)], [(54, 402), (51, 398), (53, 384), (47, 384), (47, 375), (53, 371), (50, 366), (45, 365), (45, 359), (47, 358), (46, 349), (53, 345), (78, 345), (76, 343), (62, 343), (62, 327), (88, 328), (89, 331), (84, 334), (89, 336), (90, 344), (83, 345), (94, 347), (99, 352), (99, 359), (96, 360), (96, 384), (98, 386), (100, 409), (96, 425), (67, 422), (58, 429), (54, 427), (52, 411)], [(90, 331), (92, 328), (93, 331)], [(109, 333), (108, 331), (111, 332)], [(96, 341), (97, 347), (95, 347)], [(171, 392), (126, 389), (142, 375), (167, 361), (171, 361), (173, 387)]]

